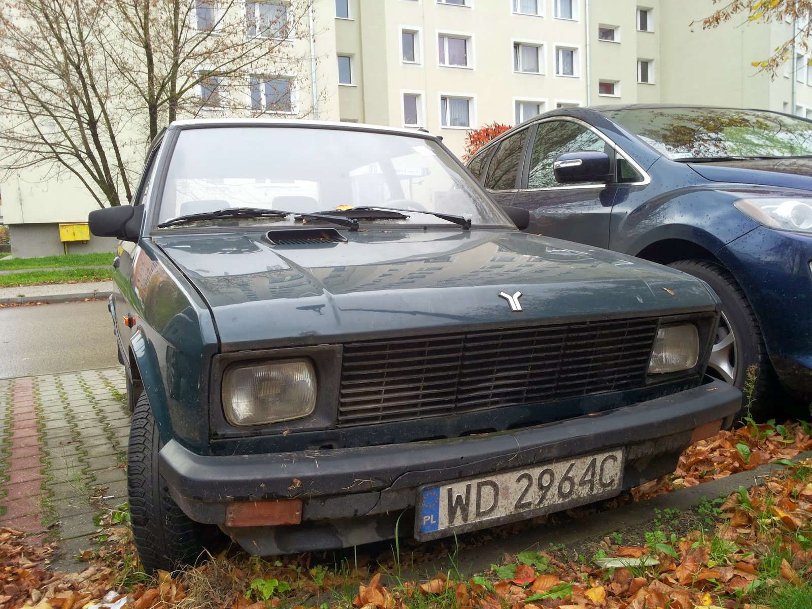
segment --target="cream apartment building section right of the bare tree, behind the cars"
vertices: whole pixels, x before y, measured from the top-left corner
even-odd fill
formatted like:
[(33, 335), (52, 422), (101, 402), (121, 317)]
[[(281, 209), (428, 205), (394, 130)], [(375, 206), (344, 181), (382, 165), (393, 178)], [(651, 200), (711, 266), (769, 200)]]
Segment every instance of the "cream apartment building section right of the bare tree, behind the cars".
[(776, 80), (751, 65), (793, 24), (703, 30), (710, 0), (643, 2), (335, 0), (340, 118), (425, 127), (461, 153), (471, 128), (562, 106), (794, 106), (812, 116), (808, 56)]

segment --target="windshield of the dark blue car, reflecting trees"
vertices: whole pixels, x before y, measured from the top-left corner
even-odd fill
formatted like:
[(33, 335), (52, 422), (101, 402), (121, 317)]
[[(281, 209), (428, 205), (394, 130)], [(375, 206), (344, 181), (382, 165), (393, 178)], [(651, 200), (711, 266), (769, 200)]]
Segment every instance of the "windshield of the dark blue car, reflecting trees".
[(674, 160), (812, 155), (812, 122), (784, 114), (719, 108), (641, 108), (604, 114)]

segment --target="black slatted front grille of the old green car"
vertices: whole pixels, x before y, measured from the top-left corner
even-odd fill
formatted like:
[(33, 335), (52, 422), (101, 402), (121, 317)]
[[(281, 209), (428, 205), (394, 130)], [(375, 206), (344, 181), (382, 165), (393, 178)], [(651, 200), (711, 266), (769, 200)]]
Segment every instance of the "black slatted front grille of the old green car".
[(339, 426), (642, 387), (657, 319), (348, 343)]

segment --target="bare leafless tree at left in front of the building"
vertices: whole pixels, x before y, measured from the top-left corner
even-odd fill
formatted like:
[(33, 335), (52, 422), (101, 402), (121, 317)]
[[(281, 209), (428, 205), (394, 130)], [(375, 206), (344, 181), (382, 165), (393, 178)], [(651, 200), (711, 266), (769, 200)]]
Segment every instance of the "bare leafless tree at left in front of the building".
[(98, 205), (120, 205), (162, 125), (290, 114), (312, 2), (6, 0), (0, 172), (67, 172)]

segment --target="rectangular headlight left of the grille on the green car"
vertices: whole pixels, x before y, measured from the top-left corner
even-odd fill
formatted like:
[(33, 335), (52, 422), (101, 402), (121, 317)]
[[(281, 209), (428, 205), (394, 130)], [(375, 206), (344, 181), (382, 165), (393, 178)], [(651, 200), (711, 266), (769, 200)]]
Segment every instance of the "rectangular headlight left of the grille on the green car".
[(307, 417), (316, 408), (316, 373), (308, 360), (233, 365), (222, 378), (222, 406), (231, 425)]

